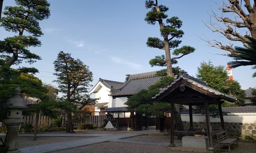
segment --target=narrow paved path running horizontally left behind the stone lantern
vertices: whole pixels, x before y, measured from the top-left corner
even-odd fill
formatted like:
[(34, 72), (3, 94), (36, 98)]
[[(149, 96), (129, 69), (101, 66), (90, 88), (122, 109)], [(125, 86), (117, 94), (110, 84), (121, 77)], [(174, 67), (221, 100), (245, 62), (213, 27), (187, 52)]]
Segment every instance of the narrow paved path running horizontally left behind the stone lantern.
[[(59, 136), (59, 137), (97, 137), (108, 136), (113, 134), (37, 134), (36, 136)], [(34, 134), (19, 134), (18, 136), (34, 136)], [(0, 134), (0, 137), (5, 137), (5, 134)]]

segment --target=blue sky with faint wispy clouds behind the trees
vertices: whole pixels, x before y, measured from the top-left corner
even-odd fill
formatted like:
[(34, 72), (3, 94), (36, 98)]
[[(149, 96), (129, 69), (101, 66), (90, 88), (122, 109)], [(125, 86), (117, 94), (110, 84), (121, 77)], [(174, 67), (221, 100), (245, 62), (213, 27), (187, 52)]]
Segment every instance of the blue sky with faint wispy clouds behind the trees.
[[(123, 82), (126, 74), (136, 74), (161, 69), (150, 67), (148, 61), (156, 55), (164, 54), (164, 50), (148, 48), (148, 37), (160, 37), (159, 25), (148, 25), (144, 21), (148, 10), (144, 0), (49, 0), (51, 16), (40, 22), (44, 35), (39, 39), (42, 47), (30, 48), (31, 52), (42, 57), (42, 60), (29, 65), (39, 69), (36, 74), (43, 82), (51, 83), (55, 78), (52, 62), (60, 51), (71, 53), (90, 67), (95, 79), (99, 78)], [(169, 17), (178, 16), (183, 21), (184, 31), (180, 46), (189, 45), (196, 51), (178, 60), (178, 64), (188, 74), (195, 75), (197, 67), (203, 60), (211, 60), (214, 65), (226, 65), (231, 58), (216, 53), (224, 51), (208, 47), (207, 43), (197, 36), (206, 35), (209, 39), (228, 42), (219, 34), (212, 33), (202, 20), (209, 19), (207, 11), (216, 10), (217, 6), (208, 0), (174, 1), (158, 0), (159, 4), (169, 7)], [(15, 5), (14, 0), (4, 0), (4, 6)], [(219, 12), (216, 10), (216, 12)], [(0, 27), (0, 40), (13, 36)], [(26, 34), (26, 33), (25, 33)], [(240, 44), (238, 44), (240, 45)], [(210, 54), (212, 53), (212, 54)], [(233, 76), (242, 89), (256, 86), (252, 78), (251, 67), (233, 69)]]

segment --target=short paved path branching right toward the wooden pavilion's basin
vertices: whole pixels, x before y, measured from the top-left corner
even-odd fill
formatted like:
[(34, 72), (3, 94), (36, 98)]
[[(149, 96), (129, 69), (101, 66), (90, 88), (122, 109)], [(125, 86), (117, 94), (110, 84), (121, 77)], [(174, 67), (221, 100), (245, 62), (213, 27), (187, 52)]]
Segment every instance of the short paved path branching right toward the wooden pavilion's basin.
[[(132, 143), (132, 144), (144, 144), (144, 145), (156, 145), (156, 146), (165, 146), (168, 147), (170, 142), (155, 142), (155, 141), (137, 141), (137, 140), (128, 140), (128, 139), (116, 139), (110, 140), (109, 142), (123, 142), (123, 143)], [(177, 146), (182, 146), (182, 143), (175, 143)]]

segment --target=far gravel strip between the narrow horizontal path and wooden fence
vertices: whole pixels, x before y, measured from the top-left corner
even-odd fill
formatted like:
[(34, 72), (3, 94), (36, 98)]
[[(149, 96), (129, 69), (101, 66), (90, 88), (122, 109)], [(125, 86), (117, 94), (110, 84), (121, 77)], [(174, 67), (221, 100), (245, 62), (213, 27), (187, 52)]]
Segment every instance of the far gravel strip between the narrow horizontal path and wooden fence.
[[(120, 134), (116, 131), (104, 131), (104, 130), (74, 130), (75, 134)], [(39, 133), (38, 133), (39, 134)], [(65, 131), (61, 132), (42, 132), (40, 134), (67, 134)]]

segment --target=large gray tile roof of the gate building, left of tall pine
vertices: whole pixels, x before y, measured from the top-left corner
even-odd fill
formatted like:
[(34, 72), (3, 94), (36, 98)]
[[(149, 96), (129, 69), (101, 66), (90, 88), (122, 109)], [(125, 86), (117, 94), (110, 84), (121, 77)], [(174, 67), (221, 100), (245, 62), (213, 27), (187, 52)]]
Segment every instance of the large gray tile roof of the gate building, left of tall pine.
[(154, 84), (162, 77), (156, 76), (156, 71), (126, 76), (126, 82), (124, 85), (116, 92), (110, 94), (110, 96), (113, 98), (132, 96), (142, 89), (148, 89), (150, 85)]

